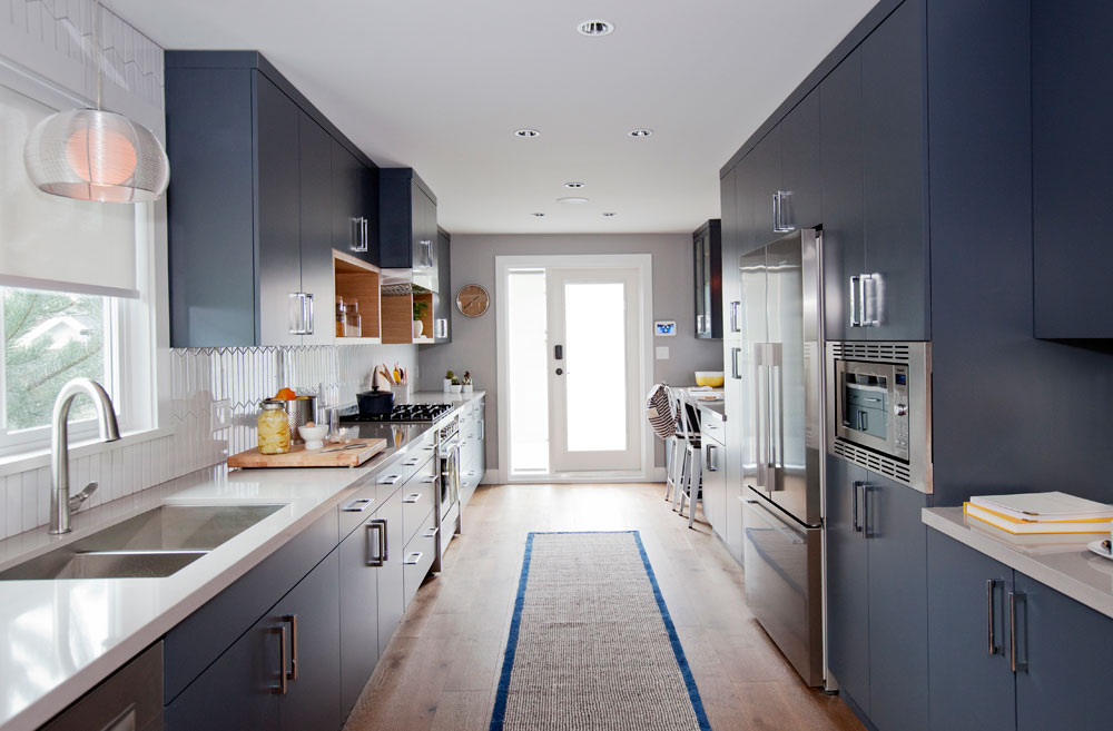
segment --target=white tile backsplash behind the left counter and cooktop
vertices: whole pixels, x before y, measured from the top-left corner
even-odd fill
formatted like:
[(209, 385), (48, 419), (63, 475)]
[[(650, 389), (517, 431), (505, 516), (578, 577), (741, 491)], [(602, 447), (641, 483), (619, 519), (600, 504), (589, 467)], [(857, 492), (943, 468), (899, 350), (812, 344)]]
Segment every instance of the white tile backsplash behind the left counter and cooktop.
[[(252, 448), (258, 404), (280, 386), (306, 393), (316, 393), (322, 383), (338, 386), (341, 403), (351, 404), (375, 364), (393, 367), (395, 362), (410, 368), (417, 382), (417, 346), (413, 345), (189, 348), (170, 350), (169, 359), (168, 394), (160, 396), (167, 413), (160, 418), (161, 426), (174, 434), (105, 445), (98, 454), (70, 461), (71, 494), (89, 482), (100, 483), (89, 498), (90, 507)], [(230, 426), (214, 432), (213, 411), (218, 406), (229, 409)], [(0, 477), (0, 539), (45, 526), (49, 506), (49, 467)]]

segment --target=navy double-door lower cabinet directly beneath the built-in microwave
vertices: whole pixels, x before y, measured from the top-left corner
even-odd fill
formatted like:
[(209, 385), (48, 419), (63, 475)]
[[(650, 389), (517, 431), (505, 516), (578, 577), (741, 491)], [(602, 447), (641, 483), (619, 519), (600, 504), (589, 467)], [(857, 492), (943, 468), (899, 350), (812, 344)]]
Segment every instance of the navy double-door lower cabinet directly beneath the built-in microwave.
[(828, 666), (879, 731), (928, 728), (927, 501), (828, 457)]

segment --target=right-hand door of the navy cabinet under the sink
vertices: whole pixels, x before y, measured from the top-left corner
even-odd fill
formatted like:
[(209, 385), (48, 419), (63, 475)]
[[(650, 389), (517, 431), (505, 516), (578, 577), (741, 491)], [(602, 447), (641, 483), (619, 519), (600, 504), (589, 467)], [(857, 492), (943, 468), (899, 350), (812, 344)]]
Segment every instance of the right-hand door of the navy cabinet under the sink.
[[(290, 670), (280, 697), (282, 729), (338, 729), (341, 718), (339, 561), (329, 553), (275, 605), (273, 619), (290, 628)], [(285, 620), (284, 618), (295, 618)], [(296, 631), (293, 629), (296, 622)]]

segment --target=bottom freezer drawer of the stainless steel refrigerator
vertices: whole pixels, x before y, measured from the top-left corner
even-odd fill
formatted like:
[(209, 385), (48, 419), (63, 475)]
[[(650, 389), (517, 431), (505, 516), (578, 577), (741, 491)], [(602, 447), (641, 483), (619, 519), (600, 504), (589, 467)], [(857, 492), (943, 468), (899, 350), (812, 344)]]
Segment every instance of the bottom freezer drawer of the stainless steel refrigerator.
[(743, 493), (746, 603), (808, 685), (824, 684), (823, 529)]

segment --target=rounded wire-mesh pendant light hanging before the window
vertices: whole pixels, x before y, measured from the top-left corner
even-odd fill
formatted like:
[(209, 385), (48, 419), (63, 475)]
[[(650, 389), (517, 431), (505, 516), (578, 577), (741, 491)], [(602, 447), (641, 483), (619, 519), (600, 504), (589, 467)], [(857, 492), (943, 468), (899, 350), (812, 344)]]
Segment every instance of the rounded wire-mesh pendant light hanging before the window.
[(23, 165), (31, 181), (55, 196), (99, 202), (157, 200), (170, 179), (170, 164), (158, 138), (101, 103), (101, 50), (95, 3), (92, 46), (97, 69), (97, 108), (53, 113), (31, 130)]

